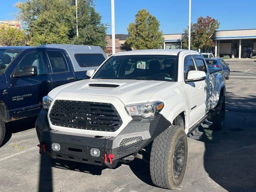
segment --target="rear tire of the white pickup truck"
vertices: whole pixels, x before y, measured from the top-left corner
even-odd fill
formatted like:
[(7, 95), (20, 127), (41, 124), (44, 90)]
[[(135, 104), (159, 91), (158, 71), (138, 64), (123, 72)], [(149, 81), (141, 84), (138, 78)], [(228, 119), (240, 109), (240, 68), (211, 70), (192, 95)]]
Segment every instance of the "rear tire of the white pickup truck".
[(226, 104), (225, 104), (225, 97), (220, 96), (218, 104), (215, 108), (210, 110), (208, 120), (212, 122), (211, 128), (213, 130), (222, 130), (224, 126), (225, 120), (225, 113), (226, 113)]

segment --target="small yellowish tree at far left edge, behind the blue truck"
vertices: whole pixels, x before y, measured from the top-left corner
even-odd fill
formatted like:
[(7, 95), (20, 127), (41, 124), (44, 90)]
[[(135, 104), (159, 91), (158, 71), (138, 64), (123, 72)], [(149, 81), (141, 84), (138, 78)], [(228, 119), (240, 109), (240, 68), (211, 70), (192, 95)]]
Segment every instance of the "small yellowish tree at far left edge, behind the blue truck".
[(0, 25), (0, 45), (1, 46), (24, 46), (27, 42), (26, 34), (17, 28), (7, 24)]

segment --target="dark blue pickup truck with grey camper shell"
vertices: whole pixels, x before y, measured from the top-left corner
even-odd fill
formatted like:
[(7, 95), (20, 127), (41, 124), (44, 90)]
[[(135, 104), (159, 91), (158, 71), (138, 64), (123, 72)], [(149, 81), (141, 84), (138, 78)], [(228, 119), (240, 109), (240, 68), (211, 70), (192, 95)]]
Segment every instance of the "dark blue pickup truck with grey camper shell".
[(35, 116), (52, 89), (86, 79), (106, 59), (98, 46), (0, 47), (0, 145), (5, 123)]

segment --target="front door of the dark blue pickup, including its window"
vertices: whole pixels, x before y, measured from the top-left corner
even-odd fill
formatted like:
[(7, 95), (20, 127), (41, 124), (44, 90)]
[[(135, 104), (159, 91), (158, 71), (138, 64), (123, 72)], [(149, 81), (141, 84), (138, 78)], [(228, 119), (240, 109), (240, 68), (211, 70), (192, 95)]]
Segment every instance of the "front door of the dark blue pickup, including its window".
[(45, 53), (41, 50), (28, 52), (14, 69), (14, 71), (22, 71), (24, 66), (36, 66), (38, 74), (18, 78), (11, 75), (10, 101), (13, 107), (10, 115), (13, 118), (38, 114), (42, 107), (42, 97), (52, 90), (51, 76), (45, 57)]

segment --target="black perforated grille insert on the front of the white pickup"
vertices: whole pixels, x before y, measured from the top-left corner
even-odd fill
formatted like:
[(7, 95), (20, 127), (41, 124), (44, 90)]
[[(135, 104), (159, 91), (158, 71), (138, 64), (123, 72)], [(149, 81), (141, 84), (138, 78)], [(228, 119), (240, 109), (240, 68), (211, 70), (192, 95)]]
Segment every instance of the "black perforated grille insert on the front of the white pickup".
[(53, 125), (97, 130), (116, 131), (122, 120), (110, 103), (56, 100), (50, 111)]

